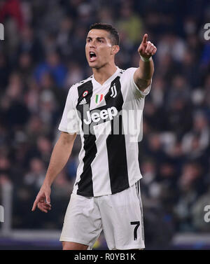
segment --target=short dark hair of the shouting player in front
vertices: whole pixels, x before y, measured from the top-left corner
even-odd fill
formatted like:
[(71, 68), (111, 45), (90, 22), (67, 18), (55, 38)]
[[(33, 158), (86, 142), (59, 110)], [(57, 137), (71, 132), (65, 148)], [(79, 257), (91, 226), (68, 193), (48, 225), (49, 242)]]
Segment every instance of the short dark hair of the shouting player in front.
[(120, 37), (119, 37), (118, 31), (112, 25), (106, 24), (106, 23), (94, 23), (90, 26), (90, 30), (91, 29), (104, 29), (104, 30), (106, 30), (111, 35), (111, 37), (110, 37), (111, 44), (112, 45), (120, 45)]

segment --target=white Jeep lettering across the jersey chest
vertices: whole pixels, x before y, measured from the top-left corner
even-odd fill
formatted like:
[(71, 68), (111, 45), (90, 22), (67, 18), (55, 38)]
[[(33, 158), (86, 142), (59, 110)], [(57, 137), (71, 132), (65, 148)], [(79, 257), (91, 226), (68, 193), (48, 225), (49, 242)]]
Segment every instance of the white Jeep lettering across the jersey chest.
[(87, 119), (83, 119), (86, 125), (90, 125), (91, 122), (99, 123), (100, 120), (113, 120), (114, 116), (117, 116), (118, 110), (115, 106), (110, 107), (109, 109), (103, 109), (101, 111), (95, 109), (90, 113), (87, 111)]

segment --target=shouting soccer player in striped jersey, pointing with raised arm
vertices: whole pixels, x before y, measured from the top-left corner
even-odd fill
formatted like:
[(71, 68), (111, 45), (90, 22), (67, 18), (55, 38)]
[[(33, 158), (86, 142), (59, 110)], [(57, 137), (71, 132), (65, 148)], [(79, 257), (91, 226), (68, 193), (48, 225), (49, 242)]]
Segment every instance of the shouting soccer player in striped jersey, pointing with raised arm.
[(66, 165), (79, 133), (82, 147), (60, 237), (63, 249), (92, 249), (102, 230), (109, 249), (145, 247), (138, 141), (154, 71), (151, 57), (157, 49), (144, 34), (139, 68), (127, 70), (115, 64), (119, 50), (113, 26), (90, 27), (85, 54), (93, 75), (69, 90), (61, 134), (32, 207), (45, 213), (51, 209), (50, 186)]

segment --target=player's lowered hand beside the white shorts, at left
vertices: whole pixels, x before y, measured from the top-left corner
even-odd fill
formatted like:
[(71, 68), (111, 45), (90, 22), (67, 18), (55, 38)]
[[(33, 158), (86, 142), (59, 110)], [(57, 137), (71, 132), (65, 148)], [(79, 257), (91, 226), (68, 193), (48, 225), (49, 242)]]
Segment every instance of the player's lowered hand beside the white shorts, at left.
[(50, 186), (41, 186), (31, 211), (35, 211), (36, 207), (38, 207), (41, 211), (48, 213), (48, 210), (51, 210), (50, 193)]

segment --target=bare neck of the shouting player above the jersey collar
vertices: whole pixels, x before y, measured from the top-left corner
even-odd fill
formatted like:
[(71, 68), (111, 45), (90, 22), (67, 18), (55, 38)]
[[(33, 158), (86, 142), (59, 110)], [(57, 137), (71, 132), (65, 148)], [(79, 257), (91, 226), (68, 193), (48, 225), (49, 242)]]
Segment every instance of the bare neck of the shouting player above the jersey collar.
[(115, 64), (113, 64), (113, 65), (107, 64), (106, 66), (104, 66), (100, 69), (93, 68), (92, 72), (94, 75), (94, 79), (98, 83), (103, 85), (103, 83), (105, 83), (106, 80), (108, 80), (116, 72), (116, 70), (117, 70), (117, 67)]

